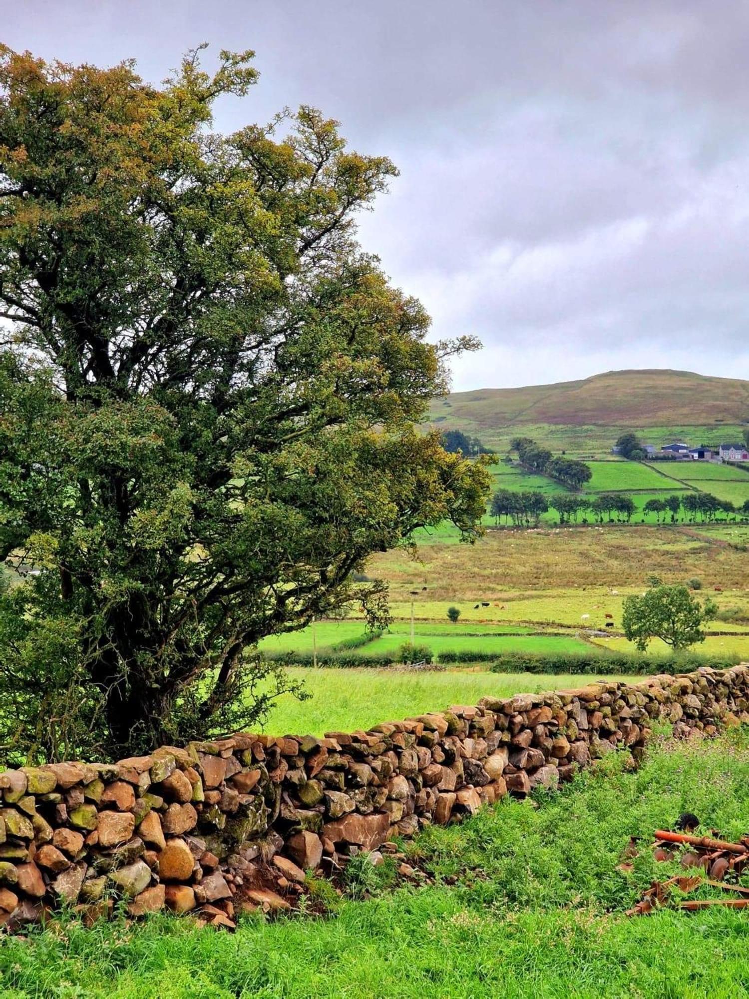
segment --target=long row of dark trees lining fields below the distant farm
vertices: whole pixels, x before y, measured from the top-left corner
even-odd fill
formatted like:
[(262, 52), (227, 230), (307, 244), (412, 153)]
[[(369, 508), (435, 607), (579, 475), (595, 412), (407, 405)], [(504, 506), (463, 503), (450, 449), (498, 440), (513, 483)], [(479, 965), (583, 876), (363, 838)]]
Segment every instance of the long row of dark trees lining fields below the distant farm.
[[(503, 517), (504, 522), (512, 522), (515, 526), (538, 524), (541, 514), (549, 509), (559, 514), (559, 523), (577, 522), (581, 513), (590, 512), (597, 523), (604, 520), (629, 523), (637, 512), (637, 505), (631, 496), (625, 493), (601, 493), (593, 500), (569, 493), (545, 496), (537, 490), (513, 491), (500, 489), (494, 493), (489, 511), (497, 523)], [(663, 500), (647, 500), (642, 507), (643, 513), (655, 513), (656, 521), (662, 522), (670, 515), (671, 523), (675, 523), (680, 512), (694, 521), (715, 520), (719, 513), (740, 512), (749, 514), (749, 500), (739, 509), (730, 500), (718, 500), (710, 493), (685, 493), (684, 496), (670, 496)]]

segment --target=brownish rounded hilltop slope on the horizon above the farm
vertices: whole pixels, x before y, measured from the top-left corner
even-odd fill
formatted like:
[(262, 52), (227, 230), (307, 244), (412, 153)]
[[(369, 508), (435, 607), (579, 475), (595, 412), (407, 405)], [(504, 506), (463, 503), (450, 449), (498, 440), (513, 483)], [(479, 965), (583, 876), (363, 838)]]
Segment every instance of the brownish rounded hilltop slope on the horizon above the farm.
[(517, 433), (554, 449), (600, 452), (623, 428), (694, 443), (740, 437), (749, 422), (749, 382), (677, 371), (606, 372), (578, 382), (477, 389), (435, 400), (435, 426), (456, 428), (503, 450)]

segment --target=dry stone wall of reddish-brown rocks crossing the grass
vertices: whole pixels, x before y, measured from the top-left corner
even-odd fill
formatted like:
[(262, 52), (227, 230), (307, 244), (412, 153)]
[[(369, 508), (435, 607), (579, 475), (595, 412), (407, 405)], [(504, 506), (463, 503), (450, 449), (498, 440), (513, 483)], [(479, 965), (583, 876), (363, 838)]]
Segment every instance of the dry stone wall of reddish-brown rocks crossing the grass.
[(749, 722), (749, 666), (636, 685), (484, 697), (475, 706), (329, 732), (237, 734), (118, 763), (0, 773), (0, 923), (61, 901), (88, 918), (283, 909), (305, 870), (459, 820), (507, 793), (554, 787), (616, 747), (641, 752), (654, 718), (677, 733)]

